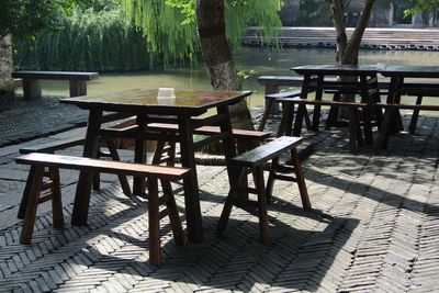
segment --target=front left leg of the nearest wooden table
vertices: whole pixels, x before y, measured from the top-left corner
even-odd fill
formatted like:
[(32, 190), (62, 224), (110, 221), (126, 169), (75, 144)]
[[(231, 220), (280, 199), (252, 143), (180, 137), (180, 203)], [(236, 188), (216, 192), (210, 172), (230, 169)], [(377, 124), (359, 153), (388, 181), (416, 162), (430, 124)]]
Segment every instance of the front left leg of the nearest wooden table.
[[(83, 144), (82, 156), (95, 158), (99, 149), (98, 132), (101, 128), (102, 111), (90, 110), (87, 125), (86, 142)], [(75, 204), (71, 216), (71, 225), (86, 225), (89, 213), (90, 193), (93, 173), (81, 171), (79, 173), (78, 185), (76, 189)]]

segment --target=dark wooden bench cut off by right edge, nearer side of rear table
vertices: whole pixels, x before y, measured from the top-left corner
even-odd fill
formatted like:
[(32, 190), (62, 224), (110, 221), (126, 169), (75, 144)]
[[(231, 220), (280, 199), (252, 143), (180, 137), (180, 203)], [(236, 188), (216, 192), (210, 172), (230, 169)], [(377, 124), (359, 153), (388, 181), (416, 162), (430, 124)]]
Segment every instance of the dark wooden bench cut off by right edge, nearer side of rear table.
[[(439, 105), (429, 104), (392, 104), (392, 103), (378, 103), (376, 106), (384, 109), (383, 123), (380, 128), (380, 134), (376, 142), (378, 148), (386, 148), (390, 134), (395, 129), (395, 119), (398, 110), (414, 110), (414, 111), (439, 111)], [(413, 134), (412, 132), (409, 132)]]

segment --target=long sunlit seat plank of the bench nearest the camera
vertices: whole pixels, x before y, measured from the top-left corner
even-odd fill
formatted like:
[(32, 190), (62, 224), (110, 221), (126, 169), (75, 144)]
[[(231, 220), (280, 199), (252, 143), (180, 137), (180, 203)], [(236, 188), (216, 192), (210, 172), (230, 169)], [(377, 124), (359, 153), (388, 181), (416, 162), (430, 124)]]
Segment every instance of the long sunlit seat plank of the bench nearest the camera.
[(106, 172), (137, 177), (160, 177), (160, 179), (179, 180), (189, 173), (188, 168), (153, 166), (134, 162), (109, 161), (53, 154), (29, 154), (15, 158), (18, 164), (58, 167), (80, 171)]

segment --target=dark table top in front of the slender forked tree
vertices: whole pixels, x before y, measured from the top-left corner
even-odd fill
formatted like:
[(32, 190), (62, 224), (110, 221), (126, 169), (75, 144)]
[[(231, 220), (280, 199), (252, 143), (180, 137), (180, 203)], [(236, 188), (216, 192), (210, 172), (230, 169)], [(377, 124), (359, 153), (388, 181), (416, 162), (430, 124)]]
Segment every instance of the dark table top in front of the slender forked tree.
[(304, 65), (291, 68), (299, 75), (354, 76), (376, 75), (376, 65)]

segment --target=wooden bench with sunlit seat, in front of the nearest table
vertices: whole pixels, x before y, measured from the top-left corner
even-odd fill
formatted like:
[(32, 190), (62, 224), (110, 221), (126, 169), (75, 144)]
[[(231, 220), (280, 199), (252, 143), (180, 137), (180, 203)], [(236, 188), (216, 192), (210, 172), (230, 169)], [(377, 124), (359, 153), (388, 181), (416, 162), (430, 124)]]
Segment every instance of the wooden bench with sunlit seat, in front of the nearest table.
[[(23, 221), (23, 229), (20, 236), (21, 244), (30, 244), (35, 223), (37, 204), (45, 201), (43, 190), (49, 190), (54, 213), (54, 227), (64, 226), (63, 204), (59, 184), (59, 169), (72, 169), (89, 172), (105, 172), (124, 176), (147, 178), (148, 182), (148, 221), (149, 221), (149, 262), (160, 264), (160, 226), (159, 221), (169, 216), (173, 237), (178, 246), (184, 245), (180, 216), (177, 210), (170, 181), (179, 181), (189, 174), (187, 168), (166, 166), (153, 166), (133, 162), (109, 161), (83, 157), (60, 156), (53, 154), (29, 154), (18, 157), (18, 164), (30, 165), (27, 182), (30, 189), (23, 194), (26, 198), (26, 213)], [(50, 182), (43, 182), (44, 168), (50, 168), (54, 173)], [(161, 180), (164, 195), (158, 196), (158, 180)], [(159, 206), (166, 203), (167, 209), (159, 211)]]

